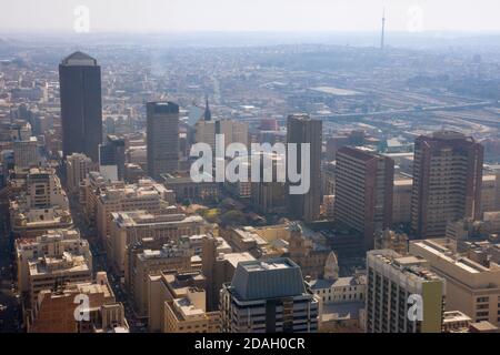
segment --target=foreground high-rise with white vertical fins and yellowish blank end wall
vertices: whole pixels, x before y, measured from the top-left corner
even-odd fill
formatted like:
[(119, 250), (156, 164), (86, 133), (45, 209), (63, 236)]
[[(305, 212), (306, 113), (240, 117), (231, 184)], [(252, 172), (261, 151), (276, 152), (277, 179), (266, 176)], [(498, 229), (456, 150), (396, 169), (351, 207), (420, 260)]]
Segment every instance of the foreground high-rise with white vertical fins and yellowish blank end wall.
[(421, 257), (367, 254), (367, 332), (441, 333), (446, 282)]

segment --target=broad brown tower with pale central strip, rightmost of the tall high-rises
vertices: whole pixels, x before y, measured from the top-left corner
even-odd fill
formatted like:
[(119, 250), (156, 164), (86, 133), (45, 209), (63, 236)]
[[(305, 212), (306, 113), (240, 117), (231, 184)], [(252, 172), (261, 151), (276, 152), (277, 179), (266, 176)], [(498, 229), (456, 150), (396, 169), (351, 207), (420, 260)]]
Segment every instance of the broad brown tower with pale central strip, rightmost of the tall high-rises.
[(444, 236), (448, 222), (479, 219), (484, 150), (457, 132), (414, 142), (411, 227), (421, 237)]

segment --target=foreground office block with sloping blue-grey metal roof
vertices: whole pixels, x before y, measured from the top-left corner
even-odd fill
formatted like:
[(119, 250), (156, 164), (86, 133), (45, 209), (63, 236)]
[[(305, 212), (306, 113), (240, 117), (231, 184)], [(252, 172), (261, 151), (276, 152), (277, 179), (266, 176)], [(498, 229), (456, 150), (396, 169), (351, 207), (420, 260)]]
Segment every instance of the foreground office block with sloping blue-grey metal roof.
[(316, 333), (319, 298), (289, 258), (240, 262), (220, 294), (224, 333)]

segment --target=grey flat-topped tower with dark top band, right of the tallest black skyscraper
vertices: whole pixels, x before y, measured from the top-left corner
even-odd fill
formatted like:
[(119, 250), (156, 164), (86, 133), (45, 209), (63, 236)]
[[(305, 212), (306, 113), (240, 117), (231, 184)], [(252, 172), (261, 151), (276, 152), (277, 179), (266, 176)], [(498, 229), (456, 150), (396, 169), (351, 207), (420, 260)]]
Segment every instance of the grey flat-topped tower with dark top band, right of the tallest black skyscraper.
[(179, 105), (148, 102), (147, 120), (148, 174), (160, 181), (179, 169)]

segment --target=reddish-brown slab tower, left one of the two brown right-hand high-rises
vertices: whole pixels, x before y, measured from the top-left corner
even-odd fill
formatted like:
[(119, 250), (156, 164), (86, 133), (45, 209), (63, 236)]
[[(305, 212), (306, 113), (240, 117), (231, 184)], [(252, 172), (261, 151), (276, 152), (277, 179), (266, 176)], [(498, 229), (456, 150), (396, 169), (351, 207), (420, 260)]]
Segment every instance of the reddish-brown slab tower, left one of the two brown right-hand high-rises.
[(337, 221), (363, 233), (364, 247), (373, 248), (373, 235), (391, 226), (394, 161), (356, 148), (337, 152)]

